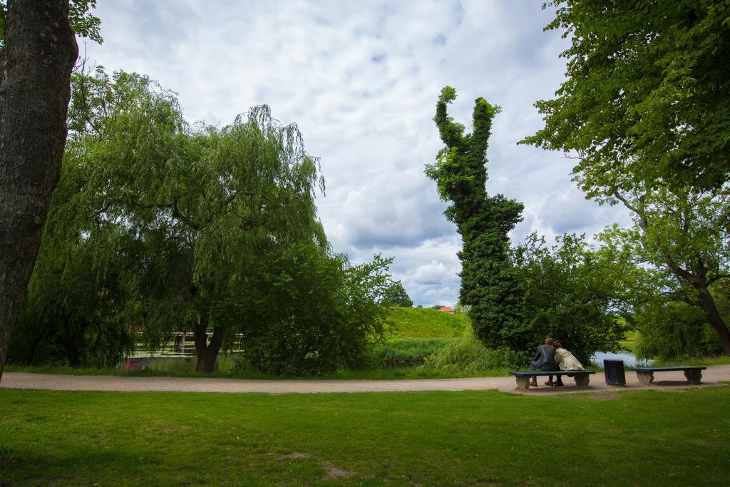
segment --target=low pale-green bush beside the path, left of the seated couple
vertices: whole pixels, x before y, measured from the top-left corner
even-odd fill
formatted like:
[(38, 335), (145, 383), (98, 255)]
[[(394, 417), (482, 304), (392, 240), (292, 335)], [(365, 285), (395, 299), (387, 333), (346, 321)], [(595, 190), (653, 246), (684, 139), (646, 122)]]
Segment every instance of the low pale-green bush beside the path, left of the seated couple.
[(490, 369), (515, 368), (519, 354), (504, 349), (485, 348), (476, 337), (464, 337), (426, 358), (422, 367), (448, 374), (471, 375)]

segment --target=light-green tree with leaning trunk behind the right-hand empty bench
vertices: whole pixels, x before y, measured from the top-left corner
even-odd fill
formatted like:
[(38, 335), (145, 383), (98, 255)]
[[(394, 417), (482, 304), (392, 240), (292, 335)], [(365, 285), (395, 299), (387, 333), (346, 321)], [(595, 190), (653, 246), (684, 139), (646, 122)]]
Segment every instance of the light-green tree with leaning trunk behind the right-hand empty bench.
[[(627, 293), (626, 301), (633, 303), (637, 315), (647, 312), (666, 317), (679, 312), (686, 317), (699, 312), (699, 321), (714, 329), (725, 353), (730, 353), (730, 333), (721, 313), (723, 294), (718, 289), (730, 282), (729, 197), (727, 185), (719, 191), (683, 193), (669, 188), (638, 195), (616, 190), (614, 198), (633, 212), (634, 227), (607, 229), (602, 234), (613, 248), (631, 253), (643, 272), (651, 276), (650, 282), (638, 279), (633, 286), (627, 283), (634, 296)], [(686, 311), (687, 306), (695, 311)], [(639, 321), (646, 323), (640, 317)], [(702, 326), (691, 329), (704, 334)], [(680, 355), (691, 353), (685, 350)]]

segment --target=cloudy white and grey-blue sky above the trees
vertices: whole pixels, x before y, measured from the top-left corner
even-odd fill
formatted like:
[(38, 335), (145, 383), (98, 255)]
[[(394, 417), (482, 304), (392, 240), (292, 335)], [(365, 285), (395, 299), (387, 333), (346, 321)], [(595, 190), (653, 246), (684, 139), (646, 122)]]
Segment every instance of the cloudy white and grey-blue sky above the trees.
[[(423, 175), (441, 141), (441, 88), (469, 128), (474, 99), (502, 106), (488, 150), (489, 193), (525, 204), (512, 233), (589, 236), (628, 221), (571, 182), (572, 162), (516, 142), (540, 128), (534, 101), (564, 79), (567, 40), (542, 28), (541, 0), (99, 1), (103, 45), (82, 53), (108, 71), (147, 74), (179, 94), (189, 121), (226, 125), (269, 104), (320, 156), (320, 218), (354, 263), (395, 257), (393, 277), (416, 304), (458, 299), (461, 240)], [(470, 128), (469, 128), (470, 130)]]

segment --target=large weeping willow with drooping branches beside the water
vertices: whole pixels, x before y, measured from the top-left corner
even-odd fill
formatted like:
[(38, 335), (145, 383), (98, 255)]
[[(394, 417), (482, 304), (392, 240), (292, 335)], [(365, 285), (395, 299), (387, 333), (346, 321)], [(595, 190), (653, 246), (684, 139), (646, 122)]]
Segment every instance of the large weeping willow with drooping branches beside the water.
[(46, 258), (64, 272), (73, 241), (100, 283), (120, 269), (126, 323), (153, 346), (192, 330), (196, 370), (210, 372), (236, 331), (224, 304), (255, 261), (294, 243), (326, 248), (318, 159), (265, 105), (220, 129), (191, 128), (174, 93), (147, 77), (97, 69), (73, 82), (68, 191), (55, 202)]

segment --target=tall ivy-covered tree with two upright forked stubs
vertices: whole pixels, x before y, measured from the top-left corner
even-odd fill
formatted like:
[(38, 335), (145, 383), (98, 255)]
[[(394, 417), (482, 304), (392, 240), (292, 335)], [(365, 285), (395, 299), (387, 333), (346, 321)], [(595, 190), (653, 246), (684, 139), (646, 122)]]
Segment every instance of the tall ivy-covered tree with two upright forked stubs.
[(475, 333), (488, 347), (522, 349), (529, 333), (522, 319), (523, 293), (509, 257), (508, 232), (521, 220), (523, 204), (486, 190), (486, 151), (499, 107), (475, 100), (472, 134), (447, 115), (456, 90), (447, 86), (436, 104), (434, 121), (445, 147), (426, 175), (437, 182), (439, 196), (451, 202), (445, 215), (456, 223), (464, 246), (460, 302), (470, 306)]

